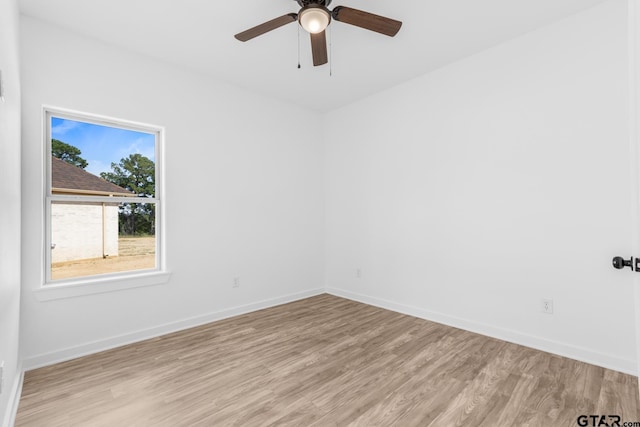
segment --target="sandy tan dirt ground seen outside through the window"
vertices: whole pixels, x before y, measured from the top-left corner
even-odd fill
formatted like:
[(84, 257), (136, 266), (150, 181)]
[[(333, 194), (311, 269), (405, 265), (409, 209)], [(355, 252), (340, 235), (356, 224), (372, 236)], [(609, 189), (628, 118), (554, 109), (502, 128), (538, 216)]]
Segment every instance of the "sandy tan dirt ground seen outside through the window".
[(55, 263), (51, 266), (53, 280), (130, 270), (155, 268), (156, 238), (120, 237), (117, 257), (92, 258)]

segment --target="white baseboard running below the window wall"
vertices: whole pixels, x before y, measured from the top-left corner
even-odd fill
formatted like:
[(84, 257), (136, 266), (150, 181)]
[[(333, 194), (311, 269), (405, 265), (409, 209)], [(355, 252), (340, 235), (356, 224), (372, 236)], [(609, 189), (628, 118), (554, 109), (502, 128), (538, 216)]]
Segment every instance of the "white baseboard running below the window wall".
[(32, 356), (22, 361), (24, 371), (30, 371), (32, 369), (41, 368), (43, 366), (53, 365), (54, 363), (64, 362), (67, 360), (75, 359), (78, 357), (86, 356), (89, 354), (97, 353), (104, 350), (109, 350), (115, 347), (120, 347), (127, 344), (132, 344), (138, 341), (143, 341), (150, 338), (155, 338), (161, 335), (170, 334), (173, 332), (181, 331), (184, 329), (193, 328), (195, 326), (204, 325), (206, 323), (215, 322), (217, 320), (226, 319), (240, 314), (250, 313), (256, 310), (262, 310), (264, 308), (274, 307), (288, 302), (309, 298), (315, 295), (323, 294), (324, 289), (311, 289), (304, 292), (299, 292), (290, 295), (284, 295), (277, 298), (270, 298), (268, 300), (258, 301), (251, 304), (241, 305), (237, 307), (228, 308), (225, 310), (215, 311), (204, 315), (191, 317), (177, 322), (166, 323), (164, 325), (156, 326), (150, 329), (144, 329), (140, 331), (130, 332), (115, 337), (97, 340), (86, 344), (69, 347), (37, 356)]

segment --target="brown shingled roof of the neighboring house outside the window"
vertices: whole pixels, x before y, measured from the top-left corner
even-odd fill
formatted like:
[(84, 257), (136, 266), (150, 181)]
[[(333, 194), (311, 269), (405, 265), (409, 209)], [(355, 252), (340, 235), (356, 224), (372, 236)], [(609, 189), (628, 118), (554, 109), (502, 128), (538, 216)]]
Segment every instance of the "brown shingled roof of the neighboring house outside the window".
[(94, 196), (134, 197), (136, 194), (51, 156), (51, 192)]

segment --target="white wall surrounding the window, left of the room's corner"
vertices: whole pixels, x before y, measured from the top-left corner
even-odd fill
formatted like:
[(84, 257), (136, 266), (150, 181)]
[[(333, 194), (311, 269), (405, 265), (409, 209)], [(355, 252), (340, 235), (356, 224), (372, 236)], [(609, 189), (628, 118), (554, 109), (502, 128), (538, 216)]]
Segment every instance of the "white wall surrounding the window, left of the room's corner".
[[(309, 112), (27, 17), (21, 49), (26, 368), (321, 291), (322, 141), (304, 132)], [(168, 284), (36, 298), (42, 104), (166, 128)]]

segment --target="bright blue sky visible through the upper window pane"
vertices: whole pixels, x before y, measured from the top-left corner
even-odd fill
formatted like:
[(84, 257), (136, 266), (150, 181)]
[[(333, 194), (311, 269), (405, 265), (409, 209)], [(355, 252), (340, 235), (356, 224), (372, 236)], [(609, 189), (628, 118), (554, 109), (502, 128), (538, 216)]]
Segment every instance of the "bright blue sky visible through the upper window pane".
[(87, 172), (100, 176), (100, 172), (111, 172), (111, 163), (119, 163), (129, 154), (139, 153), (156, 161), (155, 136), (74, 120), (51, 118), (51, 138), (78, 147), (89, 165)]

